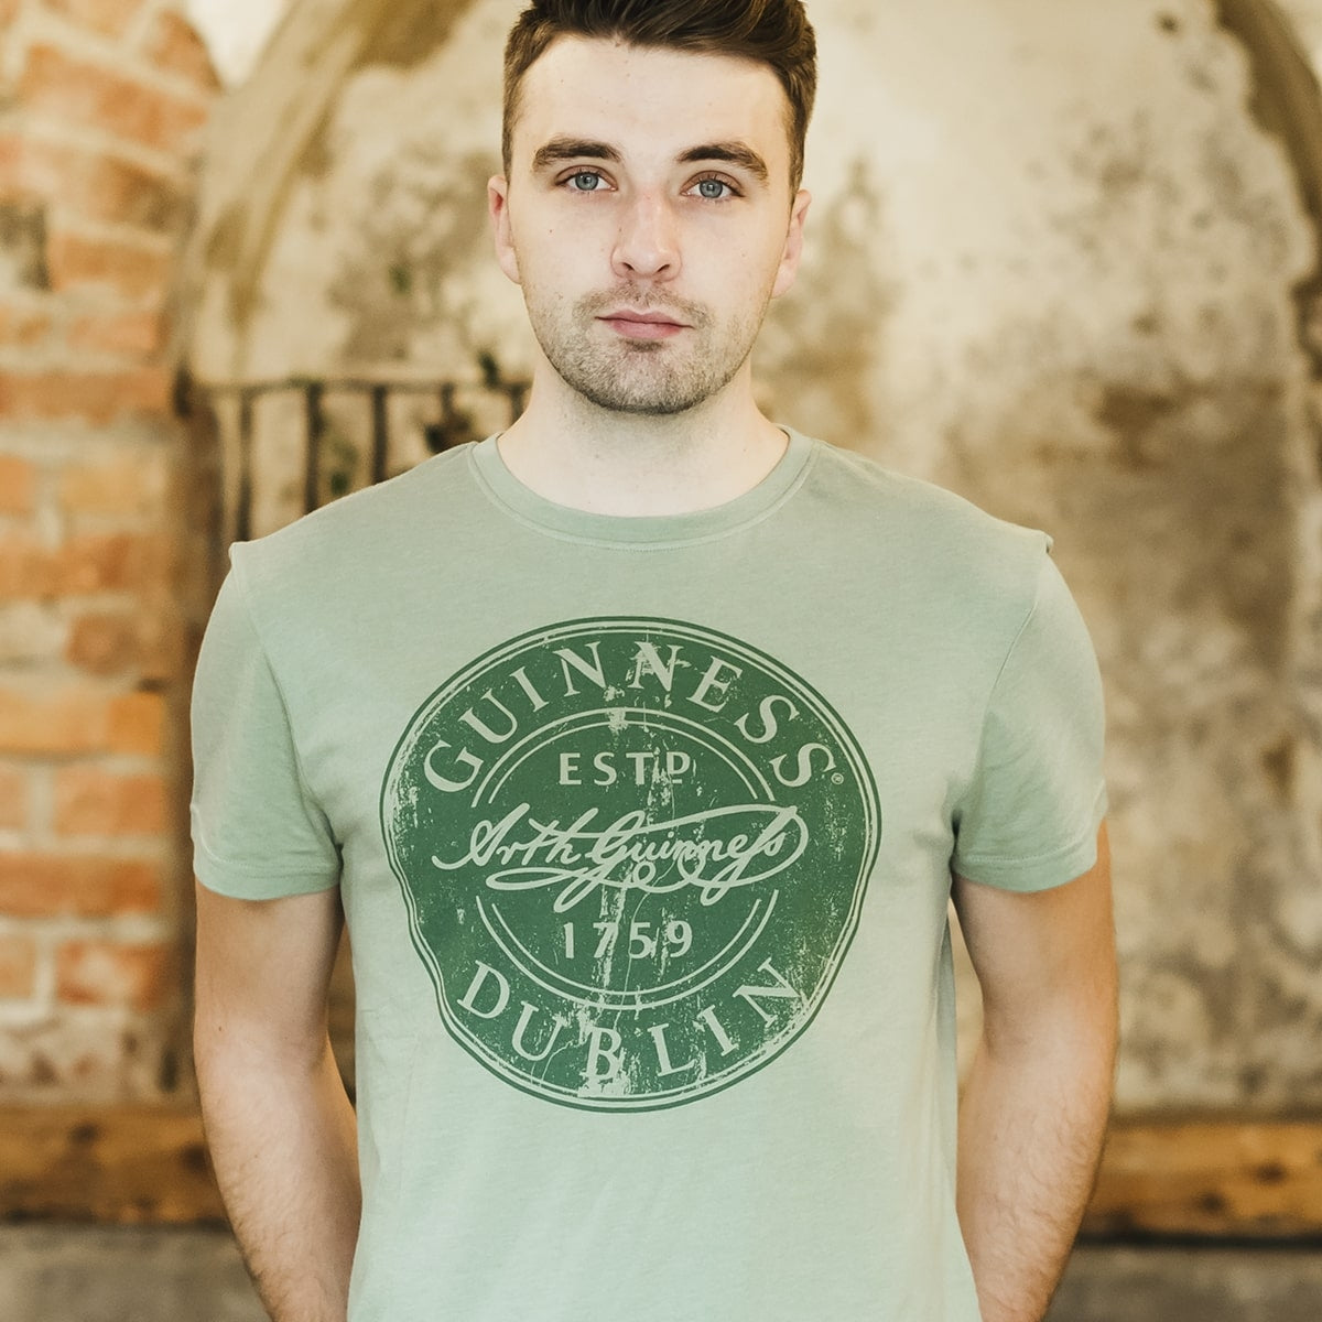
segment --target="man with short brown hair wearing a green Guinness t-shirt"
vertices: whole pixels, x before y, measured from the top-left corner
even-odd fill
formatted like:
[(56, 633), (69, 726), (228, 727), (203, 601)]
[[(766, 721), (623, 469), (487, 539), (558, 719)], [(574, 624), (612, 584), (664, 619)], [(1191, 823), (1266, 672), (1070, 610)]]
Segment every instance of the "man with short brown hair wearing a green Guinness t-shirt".
[(234, 547), (197, 1066), (279, 1322), (1046, 1307), (1114, 1050), (1096, 665), (1043, 534), (754, 403), (813, 87), (797, 0), (533, 4), (525, 415)]

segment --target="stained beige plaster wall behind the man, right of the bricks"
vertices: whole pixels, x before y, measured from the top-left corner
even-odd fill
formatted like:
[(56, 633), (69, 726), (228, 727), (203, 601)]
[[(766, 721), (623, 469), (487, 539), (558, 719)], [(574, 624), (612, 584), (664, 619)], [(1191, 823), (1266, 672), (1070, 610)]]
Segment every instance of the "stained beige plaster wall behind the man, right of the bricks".
[[(484, 219), (520, 4), (320, 8), (344, 77), (263, 193), (271, 223), (226, 192), (243, 159), (214, 139), (194, 369), (525, 374)], [(1056, 537), (1109, 698), (1120, 1108), (1315, 1108), (1318, 483), (1294, 295), (1317, 253), (1261, 74), (1211, 0), (809, 11), (816, 204), (764, 403)], [(1322, 48), (1322, 5), (1289, 11)], [(297, 49), (278, 36), (249, 112)], [(290, 434), (263, 423), (287, 476), (260, 526), (295, 513)]]

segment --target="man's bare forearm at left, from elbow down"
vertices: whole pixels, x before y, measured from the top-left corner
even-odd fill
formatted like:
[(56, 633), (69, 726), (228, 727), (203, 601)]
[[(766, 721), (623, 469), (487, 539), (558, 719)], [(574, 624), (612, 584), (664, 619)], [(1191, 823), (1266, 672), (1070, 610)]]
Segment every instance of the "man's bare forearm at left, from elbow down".
[(212, 1161), (275, 1322), (344, 1322), (361, 1194), (353, 1108), (329, 1043), (300, 1069), (254, 1051), (197, 1062)]

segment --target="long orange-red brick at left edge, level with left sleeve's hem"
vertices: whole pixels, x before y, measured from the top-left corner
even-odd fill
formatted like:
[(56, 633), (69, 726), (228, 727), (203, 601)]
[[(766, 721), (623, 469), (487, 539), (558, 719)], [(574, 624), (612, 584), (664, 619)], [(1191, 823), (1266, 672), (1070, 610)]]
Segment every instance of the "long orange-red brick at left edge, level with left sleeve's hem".
[(0, 915), (115, 917), (157, 914), (161, 896), (161, 874), (156, 863), (0, 850)]

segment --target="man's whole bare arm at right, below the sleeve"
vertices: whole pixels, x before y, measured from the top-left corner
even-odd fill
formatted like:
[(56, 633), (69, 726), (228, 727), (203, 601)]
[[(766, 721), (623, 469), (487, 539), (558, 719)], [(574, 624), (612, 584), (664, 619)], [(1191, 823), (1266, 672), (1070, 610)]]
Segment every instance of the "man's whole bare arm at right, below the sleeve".
[(984, 1322), (1038, 1322), (1092, 1192), (1117, 1039), (1107, 829), (1097, 863), (1018, 894), (954, 879), (984, 1026), (960, 1107), (958, 1212)]

